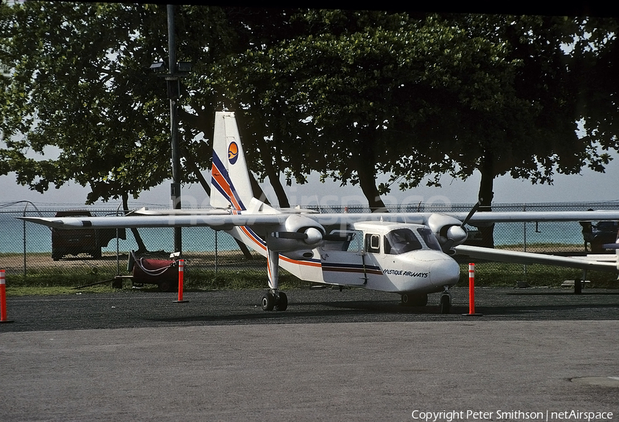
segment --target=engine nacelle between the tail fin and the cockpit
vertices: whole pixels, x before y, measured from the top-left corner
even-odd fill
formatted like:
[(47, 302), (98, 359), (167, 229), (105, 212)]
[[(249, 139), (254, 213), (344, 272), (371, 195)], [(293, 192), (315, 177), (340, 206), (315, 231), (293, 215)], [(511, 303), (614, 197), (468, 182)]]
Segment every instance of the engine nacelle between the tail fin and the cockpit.
[(267, 236), (267, 247), (274, 252), (301, 252), (303, 254), (320, 246), (323, 243), (323, 236), (325, 236), (325, 229), (322, 225), (306, 216), (292, 214), (288, 216), (285, 223), (270, 230)]

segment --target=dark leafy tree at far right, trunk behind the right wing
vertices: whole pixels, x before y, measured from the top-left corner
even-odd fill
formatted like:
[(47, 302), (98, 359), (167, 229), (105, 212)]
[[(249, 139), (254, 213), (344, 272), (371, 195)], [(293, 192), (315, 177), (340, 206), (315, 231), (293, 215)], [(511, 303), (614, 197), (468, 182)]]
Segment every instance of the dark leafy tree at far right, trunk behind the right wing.
[[(585, 82), (583, 60), (567, 49), (574, 39), (586, 37), (590, 28), (583, 22), (587, 19), (474, 14), (442, 19), (461, 27), (472, 39), (499, 47), (499, 54), (489, 56), (490, 61), (475, 58), (479, 80), (474, 73), (450, 72), (461, 84), (451, 114), (457, 129), (440, 144), (449, 163), (442, 170), (435, 166), (440, 173), (466, 179), (478, 170), (479, 197), (489, 210), (492, 181), (499, 175), (552, 184), (554, 173), (575, 174), (583, 166), (603, 170), (610, 157), (598, 146), (611, 145), (600, 136), (579, 137), (576, 132), (585, 118), (581, 108), (588, 102), (583, 89), (591, 85)], [(604, 33), (609, 36), (612, 31)], [(600, 50), (589, 52), (597, 56)], [(399, 170), (393, 178), (404, 177), (405, 188), (416, 186), (418, 178), (410, 182), (406, 168)], [(438, 178), (429, 184), (439, 184)]]

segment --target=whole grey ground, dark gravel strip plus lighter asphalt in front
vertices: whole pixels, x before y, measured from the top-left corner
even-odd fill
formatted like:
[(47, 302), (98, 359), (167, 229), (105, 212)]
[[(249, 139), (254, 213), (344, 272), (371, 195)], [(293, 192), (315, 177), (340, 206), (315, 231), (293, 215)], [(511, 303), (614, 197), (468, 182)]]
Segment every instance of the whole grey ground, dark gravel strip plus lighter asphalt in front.
[(10, 297), (0, 421), (619, 421), (617, 290), (261, 294)]

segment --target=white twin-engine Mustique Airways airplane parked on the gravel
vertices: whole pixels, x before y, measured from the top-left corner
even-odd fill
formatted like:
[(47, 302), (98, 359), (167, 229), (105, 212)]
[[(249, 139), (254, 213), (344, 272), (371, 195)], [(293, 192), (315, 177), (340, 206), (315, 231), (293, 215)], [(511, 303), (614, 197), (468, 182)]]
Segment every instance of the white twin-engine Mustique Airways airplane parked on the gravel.
[(138, 210), (131, 216), (35, 218), (26, 221), (75, 229), (103, 227), (193, 227), (224, 230), (267, 258), (265, 311), (284, 311), (279, 267), (298, 278), (400, 294), (402, 304), (424, 306), (428, 293), (443, 292), (459, 278), (451, 255), (503, 262), (543, 263), (619, 273), (617, 259), (598, 262), (577, 257), (508, 252), (462, 245), (465, 225), (505, 221), (614, 221), (617, 211), (322, 214), (300, 208), (275, 209), (254, 197), (235, 114), (218, 112), (213, 135), (210, 205), (213, 210)]

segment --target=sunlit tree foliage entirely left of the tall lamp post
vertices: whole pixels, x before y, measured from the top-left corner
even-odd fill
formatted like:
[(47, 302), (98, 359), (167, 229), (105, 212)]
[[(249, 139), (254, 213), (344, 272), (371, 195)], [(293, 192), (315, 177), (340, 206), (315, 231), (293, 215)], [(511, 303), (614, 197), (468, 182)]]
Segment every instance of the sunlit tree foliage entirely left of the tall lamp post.
[[(153, 112), (153, 87), (160, 84), (145, 74), (143, 61), (162, 37), (142, 49), (135, 36), (151, 11), (136, 13), (120, 3), (36, 1), (11, 9), (2, 27), (1, 61), (12, 74), (1, 103), (8, 151), (0, 157), (17, 170), (17, 181), (43, 192), (74, 180), (91, 187), (92, 203), (125, 193), (137, 197), (164, 179), (167, 168), (152, 165), (164, 161), (167, 151), (158, 147), (166, 141), (166, 120)], [(140, 27), (144, 38), (147, 30)], [(47, 146), (58, 149), (58, 158), (25, 154), (43, 154)]]

